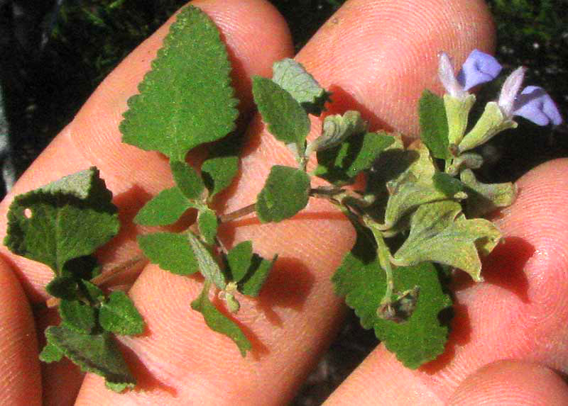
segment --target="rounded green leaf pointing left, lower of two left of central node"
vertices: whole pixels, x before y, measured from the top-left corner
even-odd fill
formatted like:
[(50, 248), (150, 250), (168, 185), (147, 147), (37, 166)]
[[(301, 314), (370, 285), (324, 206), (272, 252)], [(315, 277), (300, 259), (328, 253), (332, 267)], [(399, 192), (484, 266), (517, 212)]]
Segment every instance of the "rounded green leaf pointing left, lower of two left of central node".
[(199, 271), (197, 259), (185, 234), (154, 232), (139, 235), (138, 245), (153, 264), (177, 275), (190, 275)]

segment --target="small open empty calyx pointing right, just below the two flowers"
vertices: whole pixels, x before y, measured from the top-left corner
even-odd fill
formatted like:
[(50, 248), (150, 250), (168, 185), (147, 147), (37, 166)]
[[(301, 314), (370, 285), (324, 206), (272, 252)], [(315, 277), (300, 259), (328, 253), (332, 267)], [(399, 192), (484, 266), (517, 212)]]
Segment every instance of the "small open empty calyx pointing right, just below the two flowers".
[(469, 198), (466, 213), (469, 217), (481, 217), (500, 207), (512, 205), (517, 197), (517, 186), (511, 182), (504, 184), (483, 184), (475, 178), (470, 169), (461, 171), (461, 181), (466, 185)]

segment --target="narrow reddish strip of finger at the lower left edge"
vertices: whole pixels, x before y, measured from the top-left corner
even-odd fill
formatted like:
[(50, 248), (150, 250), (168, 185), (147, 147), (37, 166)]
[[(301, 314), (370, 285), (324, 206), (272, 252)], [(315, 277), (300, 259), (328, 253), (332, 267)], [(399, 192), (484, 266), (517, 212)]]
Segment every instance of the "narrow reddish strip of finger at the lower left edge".
[(26, 296), (0, 260), (0, 405), (41, 405), (35, 326)]

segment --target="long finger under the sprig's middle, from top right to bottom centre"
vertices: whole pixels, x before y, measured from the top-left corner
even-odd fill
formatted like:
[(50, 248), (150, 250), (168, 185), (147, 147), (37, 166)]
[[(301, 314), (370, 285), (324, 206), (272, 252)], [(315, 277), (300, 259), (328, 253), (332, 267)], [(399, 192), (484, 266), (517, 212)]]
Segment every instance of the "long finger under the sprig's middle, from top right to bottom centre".
[[(434, 8), (448, 10), (430, 12)], [(425, 22), (425, 14), (432, 19)], [(437, 52), (444, 49), (463, 60), (475, 46), (486, 49), (491, 42), (486, 18), (482, 4), (474, 7), (471, 1), (351, 1), (298, 59), (332, 87), (344, 108), (363, 108), (373, 123), (410, 128), (398, 113), (414, 111), (425, 84), (432, 88)], [(462, 38), (458, 34), (464, 27), (468, 35)], [(431, 80), (410, 69), (418, 58), (424, 61), (420, 72)], [(394, 67), (400, 72), (393, 72)], [(381, 73), (387, 68), (392, 69)], [(249, 137), (237, 185), (225, 202), (227, 211), (254, 201), (271, 165), (294, 165), (289, 152), (263, 132), (258, 117)], [(318, 201), (310, 201), (307, 212), (290, 221), (261, 225), (253, 218), (223, 228), (226, 244), (252, 239), (259, 254), (280, 254), (261, 297), (241, 300), (238, 320), (253, 342), (252, 354), (245, 359), (229, 339), (209, 330), (202, 316), (189, 309), (200, 283), (148, 266), (130, 293), (149, 332), (124, 339), (136, 354), (141, 391), (115, 395), (103, 390), (101, 378), (88, 375), (78, 403), (285, 403), (337, 327), (342, 305), (329, 277), (353, 237), (342, 215)]]

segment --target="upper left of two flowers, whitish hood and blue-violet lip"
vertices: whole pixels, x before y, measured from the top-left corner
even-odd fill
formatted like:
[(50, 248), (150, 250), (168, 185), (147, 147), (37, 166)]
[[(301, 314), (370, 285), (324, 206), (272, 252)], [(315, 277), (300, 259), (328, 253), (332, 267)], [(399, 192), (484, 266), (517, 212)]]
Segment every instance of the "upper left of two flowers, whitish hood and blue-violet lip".
[(499, 72), (501, 64), (494, 57), (473, 50), (456, 76), (448, 55), (445, 52), (439, 54), (438, 77), (447, 93), (455, 98), (465, 98), (469, 89), (495, 79)]

